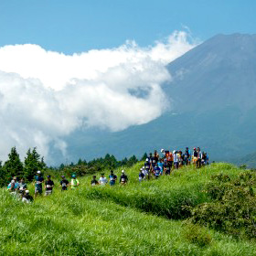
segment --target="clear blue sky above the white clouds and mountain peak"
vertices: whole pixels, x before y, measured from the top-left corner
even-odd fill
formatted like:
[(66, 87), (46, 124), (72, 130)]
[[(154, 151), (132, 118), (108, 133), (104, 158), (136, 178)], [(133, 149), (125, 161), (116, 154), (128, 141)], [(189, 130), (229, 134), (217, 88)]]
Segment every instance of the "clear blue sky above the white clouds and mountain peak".
[(66, 54), (113, 48), (126, 39), (153, 44), (189, 27), (206, 40), (255, 33), (254, 0), (1, 0), (0, 46), (32, 43)]

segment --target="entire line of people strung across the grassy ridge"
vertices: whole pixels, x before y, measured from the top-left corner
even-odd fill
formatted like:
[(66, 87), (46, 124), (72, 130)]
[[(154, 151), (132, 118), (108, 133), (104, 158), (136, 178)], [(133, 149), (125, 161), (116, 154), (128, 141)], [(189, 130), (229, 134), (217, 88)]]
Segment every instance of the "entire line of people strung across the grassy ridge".
[[(199, 168), (202, 165), (208, 165), (208, 163), (208, 154), (206, 152), (201, 152), (199, 147), (195, 147), (192, 154), (188, 147), (186, 147), (184, 153), (177, 150), (168, 151), (161, 149), (161, 155), (159, 155), (155, 150), (154, 154), (150, 153), (146, 156), (144, 165), (140, 169), (139, 182), (142, 182), (146, 178), (150, 179), (153, 176), (155, 176), (155, 178), (162, 175), (169, 176), (173, 170), (176, 170), (183, 165), (193, 164)], [(91, 186), (105, 186), (108, 183), (110, 186), (114, 186), (117, 183), (118, 178), (112, 170), (108, 178), (103, 173), (99, 180), (97, 180), (97, 176), (92, 176)], [(127, 182), (128, 176), (125, 174), (124, 170), (122, 170), (119, 184), (126, 185)], [(55, 186), (51, 176), (48, 175), (48, 178), (45, 181), (40, 171), (37, 171), (34, 185), (35, 197), (43, 194), (43, 185), (45, 188), (45, 196), (51, 195)], [(79, 180), (75, 174), (72, 174), (70, 183), (65, 176), (61, 176), (59, 186), (62, 191), (68, 190), (69, 186), (71, 189), (74, 189), (79, 185)], [(21, 198), (23, 202), (28, 203), (33, 201), (33, 197), (29, 195), (29, 190), (27, 189), (27, 184), (25, 183), (24, 178), (21, 178), (18, 182), (16, 176), (14, 176), (7, 188), (11, 194)]]

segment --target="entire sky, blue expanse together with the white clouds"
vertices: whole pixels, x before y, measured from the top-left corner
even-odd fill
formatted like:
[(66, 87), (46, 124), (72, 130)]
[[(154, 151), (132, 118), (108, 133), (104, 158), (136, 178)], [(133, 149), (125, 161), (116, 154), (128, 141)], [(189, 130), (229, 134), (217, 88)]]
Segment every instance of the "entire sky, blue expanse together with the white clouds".
[[(243, 3), (247, 3), (246, 5)], [(0, 1), (0, 160), (171, 110), (166, 65), (216, 34), (255, 33), (256, 1)]]

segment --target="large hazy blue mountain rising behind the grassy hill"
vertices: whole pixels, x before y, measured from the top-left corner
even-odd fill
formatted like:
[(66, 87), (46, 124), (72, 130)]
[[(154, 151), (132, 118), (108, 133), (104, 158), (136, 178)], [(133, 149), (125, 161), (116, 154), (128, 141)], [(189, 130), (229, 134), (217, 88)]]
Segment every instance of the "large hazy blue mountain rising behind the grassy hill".
[(216, 161), (255, 151), (256, 35), (212, 37), (167, 69), (170, 111), (123, 132), (77, 131), (65, 138), (70, 160), (198, 145)]

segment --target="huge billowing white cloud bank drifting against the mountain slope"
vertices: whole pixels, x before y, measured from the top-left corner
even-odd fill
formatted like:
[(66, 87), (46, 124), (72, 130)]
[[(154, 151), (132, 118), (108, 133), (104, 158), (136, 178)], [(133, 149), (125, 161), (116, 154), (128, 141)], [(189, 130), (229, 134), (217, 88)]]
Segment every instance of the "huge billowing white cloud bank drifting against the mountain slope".
[(80, 127), (114, 132), (154, 120), (168, 107), (165, 65), (193, 47), (175, 32), (148, 48), (127, 41), (71, 56), (29, 44), (0, 48), (0, 158), (14, 145), (21, 155), (32, 146), (48, 155), (53, 143), (65, 154), (59, 137)]

